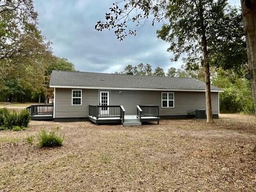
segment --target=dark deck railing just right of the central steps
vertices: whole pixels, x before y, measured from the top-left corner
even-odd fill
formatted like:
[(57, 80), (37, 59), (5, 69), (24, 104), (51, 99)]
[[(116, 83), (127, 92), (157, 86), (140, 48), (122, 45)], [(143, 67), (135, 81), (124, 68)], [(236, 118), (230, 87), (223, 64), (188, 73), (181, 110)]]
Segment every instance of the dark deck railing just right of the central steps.
[[(139, 107), (139, 108), (138, 108)], [(138, 116), (138, 113), (140, 116)], [(137, 106), (138, 118), (146, 116), (159, 117), (159, 106), (158, 105), (138, 105)]]

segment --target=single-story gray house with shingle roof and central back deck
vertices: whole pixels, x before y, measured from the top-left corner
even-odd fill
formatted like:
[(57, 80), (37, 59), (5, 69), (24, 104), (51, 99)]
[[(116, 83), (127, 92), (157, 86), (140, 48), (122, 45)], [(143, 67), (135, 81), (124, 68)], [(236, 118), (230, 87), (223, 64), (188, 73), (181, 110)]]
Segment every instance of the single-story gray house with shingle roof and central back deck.
[[(52, 71), (53, 119), (141, 124), (187, 118), (205, 109), (205, 82), (193, 78)], [(211, 86), (212, 111), (219, 116), (219, 93)]]

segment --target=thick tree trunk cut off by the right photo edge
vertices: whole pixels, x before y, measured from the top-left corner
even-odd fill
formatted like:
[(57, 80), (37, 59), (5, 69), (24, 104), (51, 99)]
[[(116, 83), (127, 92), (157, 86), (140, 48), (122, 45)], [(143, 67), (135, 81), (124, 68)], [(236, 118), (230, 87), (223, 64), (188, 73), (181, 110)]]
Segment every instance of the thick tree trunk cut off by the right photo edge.
[[(254, 110), (256, 113), (256, 1), (241, 0), (241, 7), (246, 37), (248, 66), (249, 71), (252, 74)], [(256, 152), (256, 145), (253, 151)]]

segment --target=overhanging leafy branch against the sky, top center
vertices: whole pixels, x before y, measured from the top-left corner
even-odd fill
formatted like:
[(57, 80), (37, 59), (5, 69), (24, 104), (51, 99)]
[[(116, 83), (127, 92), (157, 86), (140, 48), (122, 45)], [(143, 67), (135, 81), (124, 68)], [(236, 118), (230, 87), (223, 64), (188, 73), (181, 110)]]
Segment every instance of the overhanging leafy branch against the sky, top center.
[[(135, 36), (137, 31), (148, 21), (150, 14), (154, 15), (151, 23), (153, 26), (156, 21), (163, 20), (165, 5), (166, 0), (123, 0), (113, 3), (113, 6), (109, 8), (110, 12), (105, 15), (106, 21), (98, 21), (95, 29), (97, 31), (114, 29), (119, 40), (123, 40), (127, 35)], [(129, 21), (135, 23), (135, 29), (127, 29), (126, 23)]]

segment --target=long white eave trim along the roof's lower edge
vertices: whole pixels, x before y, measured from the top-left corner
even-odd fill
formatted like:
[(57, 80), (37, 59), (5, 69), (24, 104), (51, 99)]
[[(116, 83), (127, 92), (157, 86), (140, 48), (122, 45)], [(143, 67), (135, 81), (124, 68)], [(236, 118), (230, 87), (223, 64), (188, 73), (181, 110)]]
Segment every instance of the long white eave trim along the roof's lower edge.
[[(205, 92), (202, 89), (153, 89), (153, 88), (127, 88), (127, 87), (86, 87), (86, 86), (62, 86), (50, 85), (51, 88), (70, 88), (70, 89), (109, 89), (109, 90), (152, 90), (152, 91), (190, 91)], [(223, 90), (211, 90), (211, 92), (224, 92)]]

